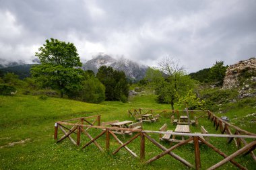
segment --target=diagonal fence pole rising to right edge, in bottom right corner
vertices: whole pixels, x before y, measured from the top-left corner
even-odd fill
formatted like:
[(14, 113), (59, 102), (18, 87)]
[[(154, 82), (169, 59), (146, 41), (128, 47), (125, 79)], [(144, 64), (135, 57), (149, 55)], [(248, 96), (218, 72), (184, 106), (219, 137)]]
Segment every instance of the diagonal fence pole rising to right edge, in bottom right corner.
[(215, 165), (213, 165), (212, 167), (210, 167), (207, 170), (214, 170), (217, 169), (218, 167), (224, 165), (225, 163), (227, 163), (228, 161), (234, 159), (234, 157), (237, 157), (238, 155), (241, 155), (242, 153), (244, 153), (245, 151), (247, 151), (249, 148), (255, 146), (256, 144), (256, 140), (254, 140), (253, 142), (245, 145), (243, 148), (239, 149), (238, 151), (232, 153), (230, 156), (226, 157), (225, 159), (223, 159), (222, 161), (220, 161), (219, 163), (216, 163)]

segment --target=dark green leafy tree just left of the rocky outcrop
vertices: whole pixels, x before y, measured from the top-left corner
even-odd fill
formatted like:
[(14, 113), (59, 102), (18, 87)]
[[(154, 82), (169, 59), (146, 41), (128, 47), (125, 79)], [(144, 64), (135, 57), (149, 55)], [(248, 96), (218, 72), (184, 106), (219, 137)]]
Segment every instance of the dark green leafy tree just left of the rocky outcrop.
[(210, 68), (210, 80), (216, 85), (222, 85), (226, 74), (227, 66), (224, 66), (223, 61), (216, 61), (213, 67)]

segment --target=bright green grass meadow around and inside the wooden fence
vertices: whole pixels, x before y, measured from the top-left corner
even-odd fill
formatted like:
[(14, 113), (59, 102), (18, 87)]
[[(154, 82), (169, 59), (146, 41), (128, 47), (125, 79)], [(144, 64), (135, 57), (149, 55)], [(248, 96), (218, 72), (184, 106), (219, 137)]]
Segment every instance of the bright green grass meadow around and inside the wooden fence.
[[(110, 153), (119, 146), (113, 138), (110, 139), (110, 153), (102, 153), (94, 145), (82, 149), (67, 139), (59, 144), (53, 140), (54, 124), (59, 120), (97, 114), (101, 115), (102, 122), (133, 120), (127, 115), (128, 109), (170, 108), (170, 105), (156, 103), (155, 97), (152, 94), (145, 94), (134, 97), (128, 103), (104, 101), (96, 105), (51, 97), (40, 99), (30, 95), (0, 96), (0, 169), (187, 169), (179, 161), (167, 155), (150, 165), (143, 165), (139, 159), (132, 157), (123, 148), (116, 155), (111, 155)], [(248, 117), (245, 117), (256, 111), (253, 107), (231, 107), (226, 115), (234, 119), (234, 123), (238, 126), (243, 124), (241, 128), (256, 132), (255, 123), (246, 121)], [(160, 122), (143, 124), (143, 128), (158, 130), (164, 123), (168, 124), (168, 129), (174, 129), (170, 120), (164, 116), (160, 118)], [(199, 124), (203, 124), (209, 133), (220, 133), (214, 130), (213, 124), (208, 120), (199, 120)], [(191, 130), (200, 132), (196, 127)], [(92, 135), (96, 134), (92, 133)], [(152, 134), (152, 137), (159, 141), (157, 134)], [(125, 142), (130, 137), (119, 136), (119, 138)], [(83, 137), (82, 145), (88, 141), (88, 138)], [(104, 148), (104, 138), (99, 138), (97, 142)], [(210, 142), (227, 155), (236, 151), (234, 143), (227, 144), (226, 138), (211, 138)], [(170, 147), (168, 143), (162, 142), (162, 144), (167, 148)], [(139, 155), (139, 139), (135, 139), (135, 142), (131, 142), (128, 146)], [(146, 140), (146, 160), (161, 152)], [(200, 152), (201, 169), (207, 169), (222, 160), (222, 157), (207, 146), (201, 145)], [(174, 150), (174, 153), (192, 164), (195, 162), (193, 144), (181, 146)], [(235, 160), (248, 169), (256, 167), (250, 155)], [(236, 169), (236, 167), (227, 163), (220, 169)]]

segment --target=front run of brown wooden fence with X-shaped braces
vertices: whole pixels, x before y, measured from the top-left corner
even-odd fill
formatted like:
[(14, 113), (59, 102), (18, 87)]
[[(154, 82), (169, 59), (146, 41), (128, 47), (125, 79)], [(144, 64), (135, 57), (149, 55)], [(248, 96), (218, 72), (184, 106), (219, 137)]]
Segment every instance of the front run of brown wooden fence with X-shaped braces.
[[(221, 126), (220, 120), (218, 119), (218, 117), (214, 116), (214, 114), (212, 114), (212, 112), (207, 112), (207, 113), (210, 115), (209, 118), (211, 118), (211, 120), (212, 120), (212, 117), (214, 117), (213, 122), (215, 122), (216, 120), (219, 121), (219, 122), (215, 123), (216, 125), (219, 124), (219, 126)], [(222, 122), (222, 123), (225, 124), (225, 122)], [(177, 161), (180, 161), (186, 167), (190, 167), (193, 169), (200, 169), (200, 167), (201, 167), (199, 141), (201, 141), (206, 146), (212, 148), (213, 151), (215, 151), (216, 153), (218, 153), (219, 155), (224, 157), (224, 159), (222, 161), (220, 161), (219, 163), (216, 163), (216, 165), (212, 165), (212, 167), (209, 167), (208, 169), (216, 169), (216, 168), (224, 165), (228, 161), (230, 163), (232, 163), (233, 165), (235, 165), (236, 167), (238, 167), (239, 169), (247, 169), (243, 165), (234, 161), (234, 157), (238, 157), (239, 155), (243, 155), (243, 154), (247, 155), (248, 153), (253, 153), (253, 150), (256, 147), (256, 135), (252, 134), (250, 132), (247, 132), (245, 130), (241, 130), (239, 128), (237, 130), (241, 134), (237, 134), (237, 133), (229, 134), (229, 132), (227, 134), (192, 134), (192, 133), (184, 134), (184, 133), (177, 133), (177, 132), (160, 132), (160, 131), (152, 131), (152, 130), (106, 127), (106, 126), (100, 126), (100, 125), (101, 125), (100, 124), (100, 115), (83, 117), (83, 118), (75, 118), (75, 119), (71, 119), (71, 120), (64, 120), (64, 121), (56, 122), (55, 123), (55, 140), (57, 140), (57, 142), (61, 142), (65, 138), (69, 138), (69, 140), (71, 140), (71, 142), (73, 142), (77, 146), (80, 146), (81, 134), (84, 134), (85, 136), (90, 138), (90, 141), (87, 142), (84, 146), (82, 146), (82, 148), (86, 148), (87, 146), (89, 146), (90, 144), (93, 143), (93, 144), (95, 144), (96, 147), (99, 148), (100, 151), (104, 151), (102, 146), (100, 146), (100, 144), (98, 144), (98, 142), (96, 142), (96, 140), (98, 138), (104, 138), (104, 136), (105, 136), (105, 138), (104, 138), (105, 150), (108, 152), (109, 148), (110, 148), (110, 135), (111, 135), (120, 144), (120, 146), (118, 148), (116, 148), (116, 150), (112, 153), (113, 155), (118, 153), (121, 150), (121, 148), (125, 148), (127, 150), (127, 152), (129, 152), (131, 155), (133, 155), (133, 157), (138, 157), (135, 152), (131, 151), (131, 149), (128, 148), (127, 144), (133, 142), (133, 140), (135, 140), (135, 138), (140, 138), (139, 157), (141, 160), (144, 160), (145, 159), (145, 140), (148, 139), (150, 142), (152, 142), (154, 145), (156, 145), (158, 148), (160, 148), (163, 152), (152, 157), (148, 161), (144, 161), (144, 163), (146, 163), (146, 164), (152, 163), (153, 161), (160, 159), (164, 155), (170, 155), (170, 157), (177, 159)], [(71, 128), (68, 128), (67, 126), (71, 126)], [(230, 125), (225, 125), (225, 126), (230, 126)], [(232, 127), (233, 127), (233, 125), (232, 125)], [(234, 127), (236, 127), (236, 126), (234, 126)], [(100, 129), (101, 131), (98, 132), (96, 137), (92, 137), (88, 132), (89, 129)], [(59, 138), (59, 139), (58, 139), (58, 130), (61, 130), (61, 132), (63, 132), (63, 136), (61, 136), (61, 138)], [(119, 140), (119, 138), (115, 134), (115, 130), (129, 130), (131, 132), (134, 132), (135, 134), (133, 136), (131, 136), (131, 138), (129, 138), (129, 140), (127, 140), (127, 142), (122, 142), (121, 140)], [(224, 130), (224, 128), (222, 129), (222, 131), (223, 130)], [(225, 132), (226, 131), (228, 131), (227, 128), (225, 128)], [(76, 134), (75, 135), (76, 140), (71, 138), (71, 134)], [(105, 135), (103, 135), (103, 134), (105, 134)], [(171, 146), (170, 148), (166, 148), (165, 146), (160, 144), (160, 142), (157, 142), (154, 138), (152, 138), (152, 136), (150, 136), (150, 134), (171, 134), (171, 135), (175, 135), (175, 136), (189, 136), (189, 138), (187, 140), (184, 140), (183, 142), (179, 142), (179, 143), (175, 144), (174, 146)], [(249, 143), (244, 142), (244, 146), (240, 145), (240, 148), (238, 148), (238, 151), (236, 151), (228, 156), (225, 153), (223, 153), (222, 151), (220, 151), (220, 149), (216, 148), (213, 144), (210, 144), (210, 142), (205, 141), (203, 138), (201, 138), (201, 136), (222, 137), (222, 138), (229, 138), (229, 140), (231, 138), (236, 138), (236, 139), (240, 138), (242, 141), (243, 141), (243, 138), (252, 138), (253, 141), (249, 142)], [(174, 149), (179, 148), (180, 146), (183, 146), (184, 144), (188, 144), (191, 141), (193, 141), (193, 145), (194, 145), (195, 163), (189, 163), (189, 161), (183, 159), (179, 155), (172, 152)]]

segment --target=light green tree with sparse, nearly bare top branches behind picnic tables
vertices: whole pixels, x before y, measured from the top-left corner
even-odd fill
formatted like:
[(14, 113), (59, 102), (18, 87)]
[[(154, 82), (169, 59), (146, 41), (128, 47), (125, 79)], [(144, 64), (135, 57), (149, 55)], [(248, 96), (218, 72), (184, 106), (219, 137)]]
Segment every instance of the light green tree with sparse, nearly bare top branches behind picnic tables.
[(155, 71), (153, 74), (158, 101), (170, 103), (171, 109), (174, 110), (174, 103), (178, 101), (179, 96), (185, 95), (188, 89), (194, 87), (195, 83), (185, 75), (185, 70), (179, 66), (179, 62), (172, 58), (164, 58), (159, 65), (159, 71), (162, 71), (164, 75), (160, 76), (159, 71)]

